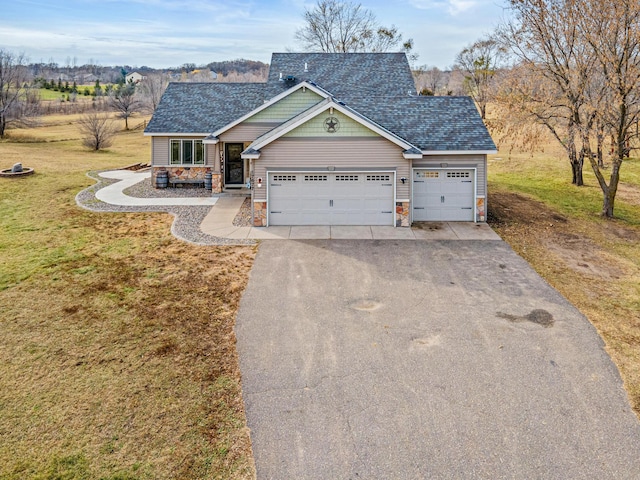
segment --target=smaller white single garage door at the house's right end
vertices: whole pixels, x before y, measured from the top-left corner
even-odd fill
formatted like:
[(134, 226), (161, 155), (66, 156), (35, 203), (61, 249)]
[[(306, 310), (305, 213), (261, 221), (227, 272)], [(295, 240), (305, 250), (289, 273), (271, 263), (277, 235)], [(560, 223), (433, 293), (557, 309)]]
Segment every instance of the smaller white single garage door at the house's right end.
[(414, 170), (413, 221), (473, 222), (473, 170)]

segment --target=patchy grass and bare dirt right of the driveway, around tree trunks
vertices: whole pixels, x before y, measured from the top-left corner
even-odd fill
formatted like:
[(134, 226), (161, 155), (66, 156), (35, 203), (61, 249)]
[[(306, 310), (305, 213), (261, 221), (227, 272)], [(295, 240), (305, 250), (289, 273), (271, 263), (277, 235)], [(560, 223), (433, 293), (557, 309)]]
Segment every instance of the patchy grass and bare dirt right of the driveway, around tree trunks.
[(490, 158), (489, 221), (598, 329), (640, 414), (640, 160), (622, 166), (614, 220), (599, 217), (601, 190), (584, 172), (585, 186), (572, 186), (552, 143)]

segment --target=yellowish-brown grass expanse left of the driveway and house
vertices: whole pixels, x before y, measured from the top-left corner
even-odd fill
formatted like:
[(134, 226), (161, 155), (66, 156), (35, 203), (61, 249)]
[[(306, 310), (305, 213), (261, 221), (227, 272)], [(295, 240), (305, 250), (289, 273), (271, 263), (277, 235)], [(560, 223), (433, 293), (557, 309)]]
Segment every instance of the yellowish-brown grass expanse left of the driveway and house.
[(232, 328), (255, 248), (77, 207), (149, 139), (90, 152), (76, 120), (0, 141), (2, 168), (36, 169), (0, 179), (0, 478), (253, 478)]

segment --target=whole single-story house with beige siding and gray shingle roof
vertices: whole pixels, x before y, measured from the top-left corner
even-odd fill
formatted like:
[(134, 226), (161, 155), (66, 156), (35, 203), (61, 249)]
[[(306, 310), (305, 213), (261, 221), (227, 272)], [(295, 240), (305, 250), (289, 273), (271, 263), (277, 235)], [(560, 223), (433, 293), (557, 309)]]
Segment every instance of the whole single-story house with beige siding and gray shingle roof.
[(250, 185), (256, 226), (486, 220), (493, 143), (469, 97), (416, 93), (403, 53), (274, 53), (266, 83), (171, 83), (152, 181)]

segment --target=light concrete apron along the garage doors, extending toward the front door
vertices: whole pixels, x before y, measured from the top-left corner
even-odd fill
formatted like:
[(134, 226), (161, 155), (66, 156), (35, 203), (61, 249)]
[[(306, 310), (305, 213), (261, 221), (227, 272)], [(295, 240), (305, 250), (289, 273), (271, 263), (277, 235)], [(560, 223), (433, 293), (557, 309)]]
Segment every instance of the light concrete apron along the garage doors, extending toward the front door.
[(220, 197), (200, 225), (216, 237), (254, 240), (500, 240), (486, 223), (433, 222), (425, 228), (392, 226), (235, 227), (244, 197)]

